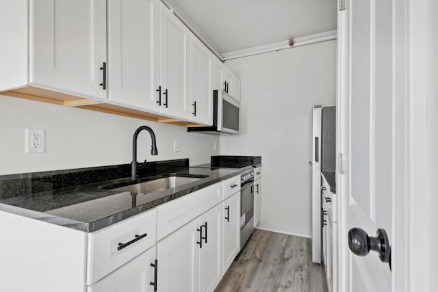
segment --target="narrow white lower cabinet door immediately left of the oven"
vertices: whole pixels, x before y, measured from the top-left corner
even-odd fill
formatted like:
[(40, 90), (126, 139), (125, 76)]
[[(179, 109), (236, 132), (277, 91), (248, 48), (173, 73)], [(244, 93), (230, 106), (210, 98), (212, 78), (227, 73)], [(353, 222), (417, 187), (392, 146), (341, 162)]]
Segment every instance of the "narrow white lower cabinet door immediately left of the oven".
[(224, 200), (222, 224), (223, 268), (225, 273), (240, 251), (240, 191)]

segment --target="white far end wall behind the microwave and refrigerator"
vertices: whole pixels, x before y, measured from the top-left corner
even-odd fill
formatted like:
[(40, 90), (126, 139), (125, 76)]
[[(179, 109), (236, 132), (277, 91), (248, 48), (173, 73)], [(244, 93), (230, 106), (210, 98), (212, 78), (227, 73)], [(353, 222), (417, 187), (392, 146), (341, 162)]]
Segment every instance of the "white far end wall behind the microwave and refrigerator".
[(261, 155), (259, 228), (311, 237), (311, 107), (335, 105), (336, 41), (233, 59), (242, 79), (240, 135), (221, 155)]

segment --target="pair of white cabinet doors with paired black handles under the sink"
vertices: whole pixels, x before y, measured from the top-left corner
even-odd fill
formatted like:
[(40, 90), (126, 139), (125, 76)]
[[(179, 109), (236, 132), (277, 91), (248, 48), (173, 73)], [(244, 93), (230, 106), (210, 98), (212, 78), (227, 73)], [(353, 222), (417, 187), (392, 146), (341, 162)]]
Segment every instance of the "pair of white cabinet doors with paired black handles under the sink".
[(157, 243), (158, 291), (214, 291), (222, 278), (222, 204)]

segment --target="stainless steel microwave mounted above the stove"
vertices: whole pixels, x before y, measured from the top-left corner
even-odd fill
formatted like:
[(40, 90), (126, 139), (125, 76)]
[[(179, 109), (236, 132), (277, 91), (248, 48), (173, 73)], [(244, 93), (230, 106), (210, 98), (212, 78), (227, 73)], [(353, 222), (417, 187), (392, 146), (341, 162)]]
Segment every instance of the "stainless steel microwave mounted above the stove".
[(224, 90), (213, 90), (213, 126), (190, 127), (188, 132), (210, 135), (237, 134), (240, 129), (240, 102)]

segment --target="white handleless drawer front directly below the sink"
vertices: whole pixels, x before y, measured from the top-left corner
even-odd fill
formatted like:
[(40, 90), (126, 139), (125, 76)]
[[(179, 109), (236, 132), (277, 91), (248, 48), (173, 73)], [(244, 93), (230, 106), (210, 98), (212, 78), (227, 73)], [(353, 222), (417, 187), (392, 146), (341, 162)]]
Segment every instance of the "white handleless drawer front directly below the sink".
[(157, 241), (222, 202), (222, 183), (209, 185), (157, 207)]

